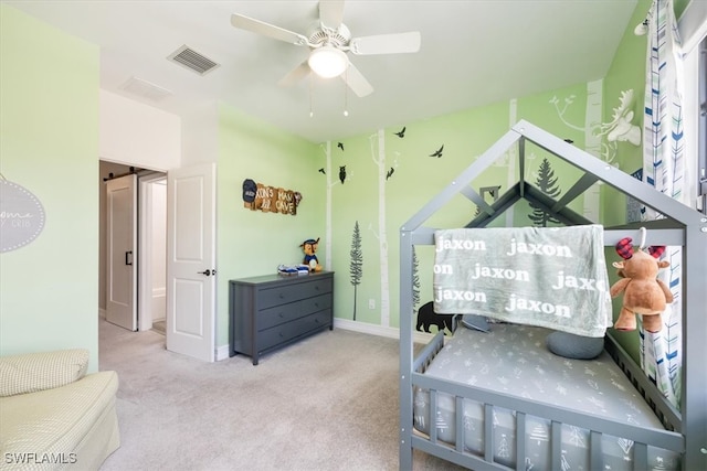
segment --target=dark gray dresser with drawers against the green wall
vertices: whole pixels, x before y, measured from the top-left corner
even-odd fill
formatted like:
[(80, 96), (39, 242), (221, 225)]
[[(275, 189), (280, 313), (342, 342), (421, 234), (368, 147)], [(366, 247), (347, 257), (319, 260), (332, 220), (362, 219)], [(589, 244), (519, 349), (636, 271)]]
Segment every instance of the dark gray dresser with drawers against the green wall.
[(229, 356), (261, 354), (334, 329), (334, 271), (229, 281)]

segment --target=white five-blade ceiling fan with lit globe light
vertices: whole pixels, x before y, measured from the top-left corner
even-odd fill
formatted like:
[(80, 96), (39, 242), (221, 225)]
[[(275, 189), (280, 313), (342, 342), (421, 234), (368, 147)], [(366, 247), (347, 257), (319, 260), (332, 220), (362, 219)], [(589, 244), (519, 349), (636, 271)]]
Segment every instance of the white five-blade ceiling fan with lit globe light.
[(323, 0), (319, 2), (319, 20), (306, 35), (239, 13), (231, 14), (231, 24), (241, 30), (310, 49), (309, 57), (285, 75), (278, 82), (279, 85), (293, 85), (314, 72), (323, 78), (340, 76), (359, 97), (371, 94), (373, 87), (349, 61), (348, 52), (372, 55), (420, 51), (419, 31), (351, 38), (351, 32), (341, 22), (342, 19), (344, 0)]

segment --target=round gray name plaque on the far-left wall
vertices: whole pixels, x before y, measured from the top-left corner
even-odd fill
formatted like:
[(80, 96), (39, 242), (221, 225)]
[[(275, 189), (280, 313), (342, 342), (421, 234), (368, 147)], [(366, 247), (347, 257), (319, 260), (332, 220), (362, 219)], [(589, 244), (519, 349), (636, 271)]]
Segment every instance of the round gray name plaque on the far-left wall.
[(43, 228), (44, 207), (39, 199), (25, 188), (0, 179), (0, 253), (30, 244)]

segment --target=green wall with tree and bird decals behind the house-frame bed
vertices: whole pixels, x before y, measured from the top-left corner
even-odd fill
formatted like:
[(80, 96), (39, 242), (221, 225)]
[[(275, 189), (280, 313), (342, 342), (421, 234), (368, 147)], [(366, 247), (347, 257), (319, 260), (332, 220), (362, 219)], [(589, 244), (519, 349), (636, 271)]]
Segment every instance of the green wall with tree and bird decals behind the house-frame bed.
[[(527, 119), (584, 148), (587, 135), (591, 132), (584, 122), (589, 101), (588, 89), (588, 84), (579, 84), (509, 103), (498, 103), (424, 121), (401, 124), (381, 130), (382, 139), (378, 132), (346, 139), (342, 141), (344, 151), (334, 143), (333, 167), (338, 170), (339, 167), (346, 165), (347, 170), (345, 183), (337, 182), (334, 185), (331, 199), (333, 266), (337, 271), (335, 315), (354, 320), (356, 311), (356, 321), (398, 328), (398, 237), (401, 225), (519, 119)], [(399, 138), (395, 132), (403, 126), (404, 138)], [(442, 157), (431, 157), (430, 154), (442, 144)], [(383, 152), (380, 152), (380, 149), (383, 149)], [(537, 172), (547, 153), (529, 147), (527, 154), (527, 175), (535, 178), (534, 172)], [(384, 157), (382, 163), (381, 156)], [(566, 191), (580, 175), (569, 165), (562, 167), (557, 161), (552, 164), (557, 165), (555, 171), (561, 191)], [(481, 175), (473, 186), (478, 190), (482, 186), (499, 185), (503, 193), (508, 189), (508, 172), (515, 174), (515, 167), (493, 167)], [(386, 178), (388, 174), (390, 176)], [(515, 181), (514, 178), (510, 183)], [(384, 202), (382, 205), (381, 201)], [(578, 199), (571, 206), (582, 213), (583, 204), (583, 200)], [(383, 211), (384, 218), (381, 218)], [(461, 226), (473, 218), (475, 211), (473, 203), (460, 196), (443, 211), (435, 213), (425, 225)], [(528, 212), (527, 205), (515, 208), (513, 224), (530, 224)], [(355, 290), (349, 275), (349, 254), (357, 222), (363, 253), (363, 277)], [(505, 224), (505, 218), (499, 223)], [(422, 248), (418, 258), (422, 304), (431, 300), (432, 250)], [(373, 309), (369, 309), (369, 300), (373, 300)], [(388, 312), (386, 306), (389, 306)]]

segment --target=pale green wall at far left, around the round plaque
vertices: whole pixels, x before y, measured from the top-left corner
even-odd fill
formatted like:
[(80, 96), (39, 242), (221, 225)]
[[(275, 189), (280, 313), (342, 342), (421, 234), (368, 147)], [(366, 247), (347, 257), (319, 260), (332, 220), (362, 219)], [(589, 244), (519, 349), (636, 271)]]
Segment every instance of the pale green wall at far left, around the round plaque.
[(98, 47), (0, 4), (0, 172), (46, 222), (0, 255), (0, 354), (85, 347), (98, 365)]

